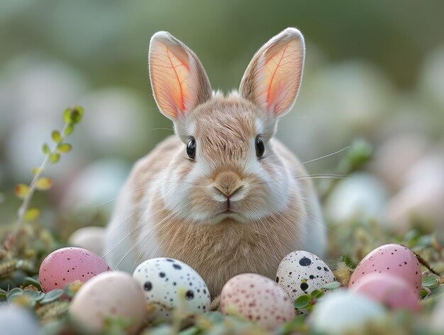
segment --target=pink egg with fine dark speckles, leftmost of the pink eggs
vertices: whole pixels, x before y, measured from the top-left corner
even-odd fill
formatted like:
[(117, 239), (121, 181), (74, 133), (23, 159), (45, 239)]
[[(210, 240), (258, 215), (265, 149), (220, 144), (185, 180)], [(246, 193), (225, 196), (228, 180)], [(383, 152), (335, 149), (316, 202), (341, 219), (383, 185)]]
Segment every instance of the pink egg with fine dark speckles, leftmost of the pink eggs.
[(95, 253), (82, 248), (61, 248), (50, 253), (38, 272), (43, 292), (64, 289), (75, 280), (86, 282), (99, 273), (111, 271)]

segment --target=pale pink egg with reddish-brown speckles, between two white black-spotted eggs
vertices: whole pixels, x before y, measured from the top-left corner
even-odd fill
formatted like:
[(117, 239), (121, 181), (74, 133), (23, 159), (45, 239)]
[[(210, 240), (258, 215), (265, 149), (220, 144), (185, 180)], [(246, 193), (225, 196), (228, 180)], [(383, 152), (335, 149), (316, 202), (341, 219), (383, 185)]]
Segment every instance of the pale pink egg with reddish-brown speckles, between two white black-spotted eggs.
[(272, 330), (294, 319), (292, 300), (276, 282), (255, 273), (228, 280), (221, 292), (221, 312), (240, 314)]

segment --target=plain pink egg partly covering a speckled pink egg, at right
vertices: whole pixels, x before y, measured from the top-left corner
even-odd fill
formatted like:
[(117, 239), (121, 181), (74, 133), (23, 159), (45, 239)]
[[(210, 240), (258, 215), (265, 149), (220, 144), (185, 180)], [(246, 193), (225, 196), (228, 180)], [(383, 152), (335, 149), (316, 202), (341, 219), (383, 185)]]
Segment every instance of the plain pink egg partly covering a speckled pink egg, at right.
[(421, 307), (413, 287), (405, 280), (389, 273), (365, 275), (350, 287), (350, 291), (367, 295), (390, 309), (409, 309), (417, 312)]

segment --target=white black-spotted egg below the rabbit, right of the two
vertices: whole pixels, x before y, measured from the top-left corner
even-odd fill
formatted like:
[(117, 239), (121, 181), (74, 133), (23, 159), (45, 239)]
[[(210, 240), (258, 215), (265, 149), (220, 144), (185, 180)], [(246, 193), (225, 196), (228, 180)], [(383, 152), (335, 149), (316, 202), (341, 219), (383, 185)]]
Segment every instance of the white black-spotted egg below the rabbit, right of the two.
[(279, 264), (276, 274), (276, 282), (293, 300), (313, 290), (321, 290), (335, 280), (326, 263), (308, 251), (289, 253)]

